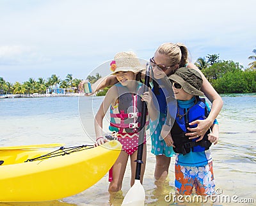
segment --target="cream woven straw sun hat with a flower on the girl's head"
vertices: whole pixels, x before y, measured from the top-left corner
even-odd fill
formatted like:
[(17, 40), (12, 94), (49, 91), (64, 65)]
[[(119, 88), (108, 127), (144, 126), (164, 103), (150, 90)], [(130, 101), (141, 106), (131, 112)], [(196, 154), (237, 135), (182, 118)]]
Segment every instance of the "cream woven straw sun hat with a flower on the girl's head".
[(110, 63), (110, 70), (115, 74), (118, 71), (132, 71), (137, 73), (144, 70), (136, 54), (133, 52), (119, 52), (115, 55), (114, 61)]

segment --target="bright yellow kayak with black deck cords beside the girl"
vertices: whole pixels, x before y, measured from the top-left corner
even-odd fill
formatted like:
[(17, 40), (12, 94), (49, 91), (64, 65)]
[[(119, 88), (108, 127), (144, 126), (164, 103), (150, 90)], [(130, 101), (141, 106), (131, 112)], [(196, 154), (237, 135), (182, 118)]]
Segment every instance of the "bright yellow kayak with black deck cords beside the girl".
[(81, 193), (108, 172), (121, 149), (115, 140), (57, 151), (0, 149), (0, 202), (42, 202)]

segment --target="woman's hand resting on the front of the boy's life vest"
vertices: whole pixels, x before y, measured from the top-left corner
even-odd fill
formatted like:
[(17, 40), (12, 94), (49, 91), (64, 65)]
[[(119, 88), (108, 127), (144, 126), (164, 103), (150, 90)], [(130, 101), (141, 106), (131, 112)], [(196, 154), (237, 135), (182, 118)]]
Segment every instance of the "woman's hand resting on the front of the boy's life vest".
[(210, 121), (209, 119), (204, 119), (204, 120), (196, 120), (189, 123), (189, 125), (194, 125), (194, 124), (197, 124), (197, 127), (187, 128), (191, 132), (186, 133), (186, 136), (189, 136), (189, 139), (198, 138), (198, 136), (200, 136), (200, 138), (196, 140), (196, 142), (198, 142), (202, 140), (202, 138), (204, 138), (205, 133), (212, 126), (212, 121)]

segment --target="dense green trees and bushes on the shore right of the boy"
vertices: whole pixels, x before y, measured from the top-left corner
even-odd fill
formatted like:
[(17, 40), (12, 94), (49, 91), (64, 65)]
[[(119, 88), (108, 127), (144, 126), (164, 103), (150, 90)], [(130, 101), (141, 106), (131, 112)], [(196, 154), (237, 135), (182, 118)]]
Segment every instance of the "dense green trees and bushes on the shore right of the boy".
[[(256, 54), (256, 49), (253, 53)], [(248, 68), (219, 58), (220, 54), (208, 54), (195, 63), (218, 93), (256, 92), (256, 55), (248, 57), (253, 60)]]

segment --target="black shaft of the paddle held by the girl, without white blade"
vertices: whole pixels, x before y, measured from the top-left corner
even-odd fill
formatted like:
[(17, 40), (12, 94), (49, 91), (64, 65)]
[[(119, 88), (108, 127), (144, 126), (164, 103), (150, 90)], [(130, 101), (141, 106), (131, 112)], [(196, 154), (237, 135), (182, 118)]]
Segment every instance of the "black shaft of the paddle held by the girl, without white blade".
[[(146, 74), (145, 74), (145, 87), (144, 92), (148, 91), (149, 87), (149, 77), (150, 76), (150, 65), (147, 63), (146, 67)], [(140, 134), (139, 134), (139, 145), (138, 145), (138, 153), (137, 153), (137, 159), (136, 159), (136, 173), (135, 173), (135, 179), (140, 180), (140, 173), (141, 173), (141, 164), (142, 161), (142, 155), (143, 155), (143, 142), (145, 137), (145, 125), (146, 125), (146, 118), (147, 118), (147, 104), (145, 101), (141, 104), (142, 110), (141, 110), (141, 122), (140, 122)]]

